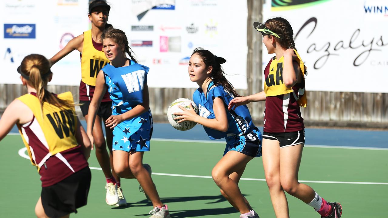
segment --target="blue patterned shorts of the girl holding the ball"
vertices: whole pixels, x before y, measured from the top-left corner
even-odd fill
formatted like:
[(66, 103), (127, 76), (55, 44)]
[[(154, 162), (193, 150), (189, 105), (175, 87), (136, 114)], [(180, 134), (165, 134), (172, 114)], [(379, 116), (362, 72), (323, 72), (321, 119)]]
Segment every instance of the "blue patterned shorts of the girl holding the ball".
[(238, 136), (226, 137), (226, 148), (223, 155), (228, 151), (238, 151), (251, 157), (262, 156), (262, 133), (257, 128)]

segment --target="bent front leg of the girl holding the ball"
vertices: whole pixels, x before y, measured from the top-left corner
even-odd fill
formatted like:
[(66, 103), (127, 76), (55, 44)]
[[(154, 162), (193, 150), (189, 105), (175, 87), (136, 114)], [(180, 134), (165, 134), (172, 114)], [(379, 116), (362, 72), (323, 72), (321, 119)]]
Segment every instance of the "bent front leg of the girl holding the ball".
[(238, 151), (229, 151), (220, 161), (218, 161), (211, 171), (214, 182), (221, 190), (223, 190), (223, 192), (225, 192), (225, 194), (227, 194), (227, 196), (229, 196), (229, 200), (234, 203), (232, 205), (234, 205), (241, 214), (249, 213), (251, 210), (246, 204), (237, 183), (229, 178), (229, 175), (244, 168), (251, 159), (253, 159), (253, 157)]

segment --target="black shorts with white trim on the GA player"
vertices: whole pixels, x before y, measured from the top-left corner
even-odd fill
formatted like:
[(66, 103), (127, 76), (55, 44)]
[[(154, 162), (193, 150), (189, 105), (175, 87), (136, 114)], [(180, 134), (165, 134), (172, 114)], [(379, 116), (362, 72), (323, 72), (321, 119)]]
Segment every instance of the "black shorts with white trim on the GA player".
[(280, 147), (305, 144), (305, 130), (285, 132), (285, 133), (263, 133), (263, 138), (278, 140)]

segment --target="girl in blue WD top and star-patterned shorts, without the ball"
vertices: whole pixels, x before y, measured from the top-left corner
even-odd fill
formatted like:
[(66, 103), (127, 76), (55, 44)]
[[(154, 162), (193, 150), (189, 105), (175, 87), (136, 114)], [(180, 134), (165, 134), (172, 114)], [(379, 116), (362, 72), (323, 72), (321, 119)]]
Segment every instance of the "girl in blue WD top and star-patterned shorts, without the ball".
[(169, 218), (168, 207), (162, 204), (152, 182), (149, 165), (142, 163), (144, 152), (150, 150), (153, 127), (147, 87), (149, 68), (137, 63), (130, 52), (126, 35), (120, 29), (107, 29), (101, 38), (104, 53), (111, 62), (97, 75), (88, 111), (88, 136), (93, 143), (93, 123), (107, 91), (113, 103), (112, 116), (106, 123), (113, 128), (114, 170), (121, 178), (137, 179), (154, 206), (150, 211), (151, 218)]

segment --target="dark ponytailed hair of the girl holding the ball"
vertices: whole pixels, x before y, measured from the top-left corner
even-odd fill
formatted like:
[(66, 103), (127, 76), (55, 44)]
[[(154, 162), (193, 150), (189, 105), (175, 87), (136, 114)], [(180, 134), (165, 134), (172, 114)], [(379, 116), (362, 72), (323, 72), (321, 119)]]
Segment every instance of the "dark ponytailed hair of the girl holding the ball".
[(230, 82), (225, 78), (225, 73), (223, 72), (223, 69), (221, 67), (221, 64), (226, 62), (223, 57), (217, 57), (216, 55), (213, 55), (213, 53), (211, 53), (209, 50), (203, 48), (194, 49), (191, 55), (193, 54), (199, 55), (199, 57), (201, 57), (201, 59), (205, 63), (206, 67), (213, 67), (210, 75), (211, 79), (214, 82), (214, 85), (221, 85), (228, 93), (232, 94), (234, 97), (240, 96), (239, 94), (237, 94), (233, 85), (230, 84)]

